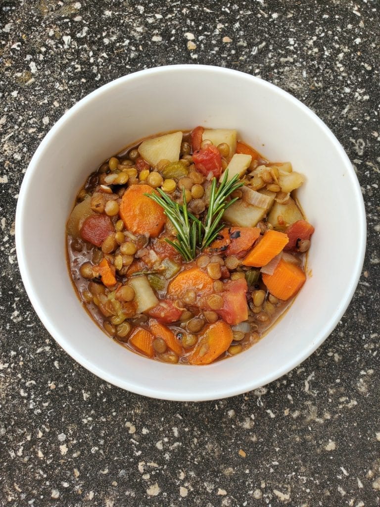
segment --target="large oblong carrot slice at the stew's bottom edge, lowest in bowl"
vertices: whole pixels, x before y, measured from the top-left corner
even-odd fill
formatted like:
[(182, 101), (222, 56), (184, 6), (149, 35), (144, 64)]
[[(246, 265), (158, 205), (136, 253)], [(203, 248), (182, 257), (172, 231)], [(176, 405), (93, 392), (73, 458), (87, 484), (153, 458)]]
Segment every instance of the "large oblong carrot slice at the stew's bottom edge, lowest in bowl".
[(232, 329), (222, 320), (210, 324), (188, 358), (191, 365), (208, 365), (225, 352), (233, 340)]

